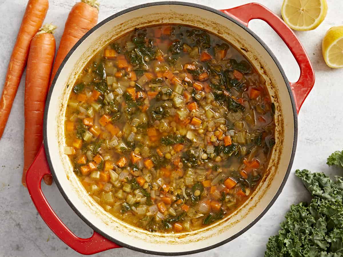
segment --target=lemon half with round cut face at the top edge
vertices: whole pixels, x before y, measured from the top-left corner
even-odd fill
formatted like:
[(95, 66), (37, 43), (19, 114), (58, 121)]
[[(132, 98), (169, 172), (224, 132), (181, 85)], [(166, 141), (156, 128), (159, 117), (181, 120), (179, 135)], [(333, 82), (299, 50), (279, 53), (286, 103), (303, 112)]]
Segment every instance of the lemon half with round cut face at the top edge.
[(281, 15), (295, 30), (311, 30), (319, 26), (328, 11), (326, 0), (284, 0)]

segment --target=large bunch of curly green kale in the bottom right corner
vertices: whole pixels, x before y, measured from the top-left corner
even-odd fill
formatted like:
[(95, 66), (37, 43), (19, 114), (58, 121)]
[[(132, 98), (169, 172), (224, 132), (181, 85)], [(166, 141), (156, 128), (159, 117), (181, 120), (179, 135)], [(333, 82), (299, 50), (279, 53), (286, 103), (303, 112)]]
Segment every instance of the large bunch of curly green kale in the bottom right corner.
[(292, 205), (278, 235), (271, 236), (265, 257), (343, 256), (343, 178), (296, 170), (313, 199)]

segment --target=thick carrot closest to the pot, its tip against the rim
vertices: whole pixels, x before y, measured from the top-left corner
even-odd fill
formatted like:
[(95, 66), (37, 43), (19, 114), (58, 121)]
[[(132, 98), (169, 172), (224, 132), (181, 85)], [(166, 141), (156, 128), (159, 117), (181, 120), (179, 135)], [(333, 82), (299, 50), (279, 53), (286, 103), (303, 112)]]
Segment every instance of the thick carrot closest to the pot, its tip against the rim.
[(66, 25), (57, 50), (54, 68), (52, 68), (50, 86), (58, 68), (72, 47), (84, 34), (98, 23), (99, 3), (97, 0), (81, 0), (74, 4), (69, 12)]

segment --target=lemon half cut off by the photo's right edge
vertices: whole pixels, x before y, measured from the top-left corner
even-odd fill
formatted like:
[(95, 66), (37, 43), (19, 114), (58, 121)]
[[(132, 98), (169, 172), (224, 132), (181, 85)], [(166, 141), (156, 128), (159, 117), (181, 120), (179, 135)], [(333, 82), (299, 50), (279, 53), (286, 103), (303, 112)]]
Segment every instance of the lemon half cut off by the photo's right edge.
[(331, 68), (343, 68), (343, 26), (332, 27), (322, 41), (323, 57)]

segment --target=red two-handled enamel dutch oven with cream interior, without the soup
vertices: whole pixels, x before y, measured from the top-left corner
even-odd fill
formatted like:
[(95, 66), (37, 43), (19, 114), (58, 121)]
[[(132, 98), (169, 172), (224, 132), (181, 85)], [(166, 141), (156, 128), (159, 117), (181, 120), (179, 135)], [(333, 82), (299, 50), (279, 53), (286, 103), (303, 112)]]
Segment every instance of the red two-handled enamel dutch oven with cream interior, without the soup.
[[(248, 22), (267, 22), (294, 55), (300, 78), (289, 83), (280, 63)], [(275, 140), (267, 171), (258, 188), (234, 213), (209, 227), (184, 233), (151, 233), (118, 220), (104, 211), (73, 173), (63, 154), (64, 114), (72, 85), (84, 65), (108, 42), (135, 27), (176, 23), (199, 27), (219, 35), (240, 49), (266, 81), (275, 104)], [(309, 58), (292, 30), (273, 12), (257, 3), (217, 11), (198, 4), (157, 2), (121, 11), (96, 25), (72, 48), (61, 64), (46, 102), (44, 146), (26, 175), (29, 194), (49, 228), (68, 246), (81, 254), (95, 254), (127, 247), (144, 253), (184, 255), (202, 252), (227, 243), (255, 224), (281, 193), (292, 167), (297, 140), (297, 112), (315, 82)], [(89, 225), (90, 238), (74, 235), (51, 209), (40, 188), (45, 174), (52, 174), (71, 208)]]

